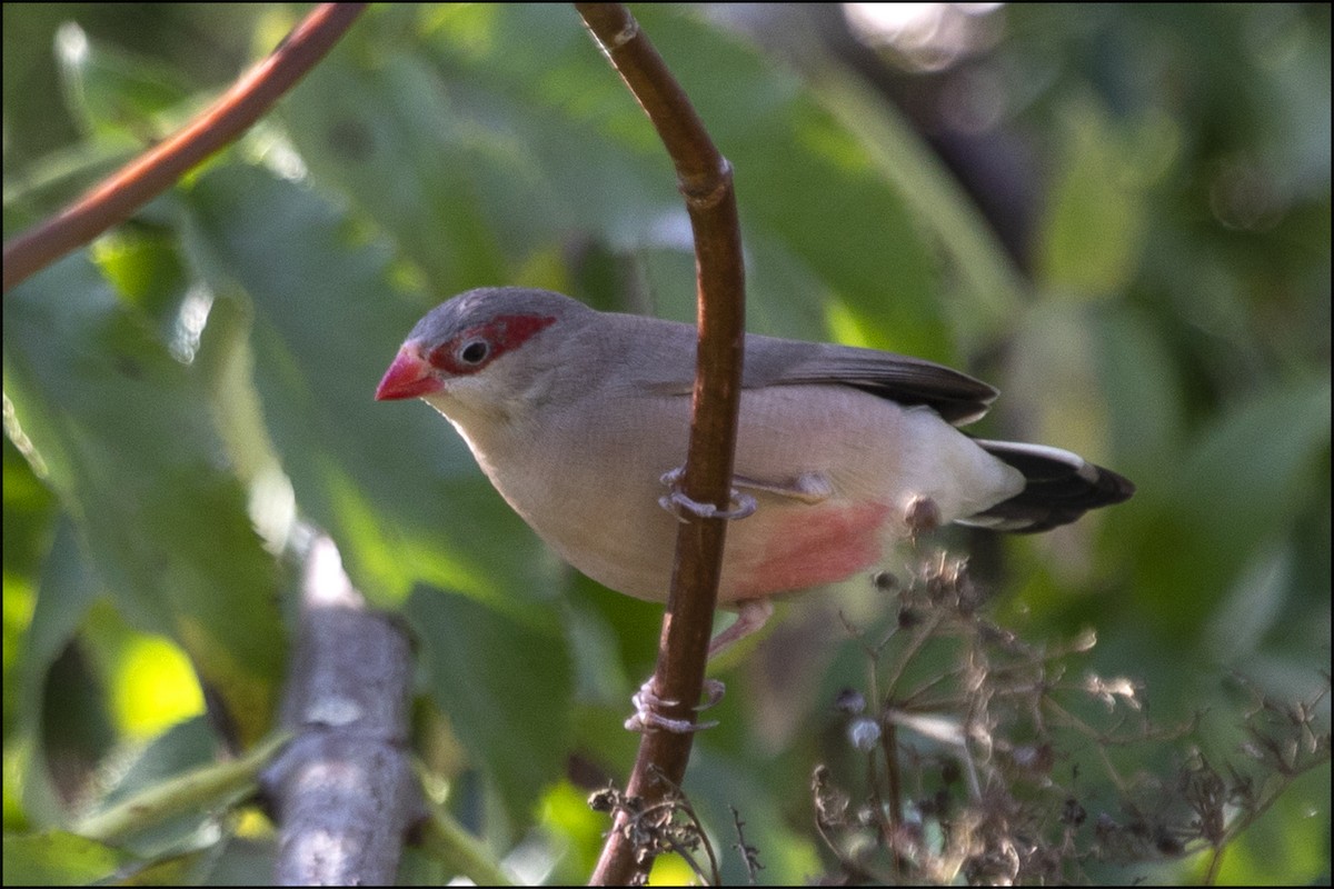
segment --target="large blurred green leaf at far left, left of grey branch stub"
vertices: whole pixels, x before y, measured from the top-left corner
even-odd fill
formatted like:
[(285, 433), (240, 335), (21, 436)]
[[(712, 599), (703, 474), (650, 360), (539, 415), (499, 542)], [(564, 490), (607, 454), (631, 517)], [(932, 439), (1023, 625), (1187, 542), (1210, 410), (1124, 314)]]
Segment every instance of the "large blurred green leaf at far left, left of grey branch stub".
[(4, 303), (5, 392), (127, 614), (171, 636), (235, 720), (268, 725), (277, 572), (228, 472), (207, 389), (83, 257)]

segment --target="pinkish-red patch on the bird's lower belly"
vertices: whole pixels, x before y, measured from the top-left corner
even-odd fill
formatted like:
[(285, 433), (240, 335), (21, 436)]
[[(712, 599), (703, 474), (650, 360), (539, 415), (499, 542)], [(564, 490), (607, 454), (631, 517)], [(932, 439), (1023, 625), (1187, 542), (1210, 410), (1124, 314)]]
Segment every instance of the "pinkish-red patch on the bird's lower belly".
[(728, 537), (724, 566), (732, 570), (724, 570), (720, 598), (759, 598), (819, 586), (874, 565), (880, 557), (880, 529), (888, 512), (878, 502), (779, 510), (762, 534), (759, 552), (754, 546), (732, 552), (734, 538)]

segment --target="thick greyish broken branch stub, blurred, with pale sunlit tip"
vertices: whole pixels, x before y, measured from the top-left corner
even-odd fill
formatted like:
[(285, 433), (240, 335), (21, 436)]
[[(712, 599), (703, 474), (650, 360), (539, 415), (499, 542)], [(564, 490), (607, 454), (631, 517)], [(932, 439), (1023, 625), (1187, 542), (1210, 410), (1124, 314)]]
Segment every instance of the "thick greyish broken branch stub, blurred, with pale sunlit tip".
[(426, 806), (408, 757), (412, 649), (370, 610), (317, 536), (305, 557), (300, 632), (283, 725), (296, 736), (260, 784), (279, 824), (281, 886), (387, 885)]

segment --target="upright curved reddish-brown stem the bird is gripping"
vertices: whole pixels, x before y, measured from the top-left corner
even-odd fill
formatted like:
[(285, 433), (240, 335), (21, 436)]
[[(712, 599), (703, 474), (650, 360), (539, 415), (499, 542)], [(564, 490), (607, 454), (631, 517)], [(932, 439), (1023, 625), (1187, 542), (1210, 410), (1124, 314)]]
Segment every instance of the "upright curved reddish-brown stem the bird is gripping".
[[(683, 488), (691, 500), (727, 509), (744, 340), (744, 271), (731, 165), (630, 12), (620, 4), (576, 3), (575, 8), (648, 115), (676, 167), (695, 235), (699, 308)], [(652, 678), (658, 697), (678, 702), (675, 712), (666, 708), (671, 718), (694, 721), (691, 708), (704, 681), (726, 528), (720, 518), (691, 518), (676, 537), (671, 594)], [(691, 740), (690, 734), (646, 732), (626, 793), (643, 798), (646, 806), (662, 801), (682, 782)], [(618, 816), (591, 878), (595, 885), (627, 884), (647, 874), (652, 865), (652, 853), (636, 849), (622, 829), (624, 821), (624, 814)]]

